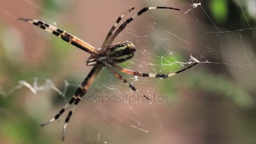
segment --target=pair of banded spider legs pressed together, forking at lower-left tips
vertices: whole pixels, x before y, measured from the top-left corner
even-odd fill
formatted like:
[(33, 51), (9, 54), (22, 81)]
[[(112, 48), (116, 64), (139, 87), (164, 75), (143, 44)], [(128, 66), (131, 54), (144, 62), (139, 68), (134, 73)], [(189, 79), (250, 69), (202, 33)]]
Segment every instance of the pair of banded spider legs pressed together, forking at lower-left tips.
[(79, 88), (77, 88), (77, 91), (75, 92), (75, 95), (71, 98), (71, 100), (59, 111), (55, 117), (53, 117), (51, 120), (49, 120), (47, 123), (41, 124), (41, 126), (48, 125), (49, 123), (53, 122), (54, 120), (57, 120), (64, 112), (65, 110), (74, 103), (72, 109), (69, 111), (65, 123), (63, 126), (62, 131), (62, 140), (64, 141), (64, 132), (67, 128), (67, 123), (69, 122), (70, 117), (72, 116), (72, 113), (74, 112), (77, 104), (81, 101), (82, 97), (85, 95), (88, 88), (91, 86), (93, 81), (95, 80), (96, 76), (99, 74), (101, 68), (103, 67), (102, 64), (97, 64), (91, 69), (91, 72), (88, 74), (88, 76), (85, 78), (83, 83), (80, 85)]

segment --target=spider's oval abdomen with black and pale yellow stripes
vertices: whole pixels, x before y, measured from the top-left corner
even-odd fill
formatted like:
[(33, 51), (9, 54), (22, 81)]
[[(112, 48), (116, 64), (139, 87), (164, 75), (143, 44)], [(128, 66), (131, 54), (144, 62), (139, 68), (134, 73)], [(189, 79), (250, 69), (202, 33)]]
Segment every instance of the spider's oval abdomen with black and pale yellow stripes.
[(135, 54), (136, 48), (131, 42), (122, 42), (111, 45), (107, 57), (111, 58), (113, 63), (121, 63), (131, 59)]

